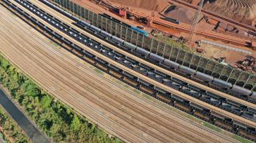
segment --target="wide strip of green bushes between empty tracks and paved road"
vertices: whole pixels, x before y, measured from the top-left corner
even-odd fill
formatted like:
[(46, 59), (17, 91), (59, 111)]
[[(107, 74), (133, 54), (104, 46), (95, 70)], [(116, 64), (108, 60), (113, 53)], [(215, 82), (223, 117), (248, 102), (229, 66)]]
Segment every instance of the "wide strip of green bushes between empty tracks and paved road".
[[(54, 102), (53, 97), (45, 93), (2, 56), (0, 56), (0, 81), (8, 88), (30, 119), (54, 139), (54, 142), (121, 142), (119, 139), (109, 137), (97, 125), (76, 115), (71, 108), (61, 102)], [(17, 136), (20, 141), (25, 142), (17, 130), (13, 132), (13, 137)]]

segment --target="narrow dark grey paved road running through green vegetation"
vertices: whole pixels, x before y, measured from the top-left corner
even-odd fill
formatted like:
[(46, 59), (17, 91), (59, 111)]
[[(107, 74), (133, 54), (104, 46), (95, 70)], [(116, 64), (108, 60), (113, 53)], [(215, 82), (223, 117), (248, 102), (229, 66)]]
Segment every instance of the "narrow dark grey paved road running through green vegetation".
[(11, 100), (6, 97), (7, 95), (0, 90), (0, 104), (6, 109), (6, 111), (11, 115), (11, 117), (20, 125), (28, 137), (32, 139), (35, 143), (49, 143), (48, 139), (44, 137), (44, 135), (35, 128), (35, 126), (30, 123), (28, 118), (21, 112), (18, 107), (16, 107)]

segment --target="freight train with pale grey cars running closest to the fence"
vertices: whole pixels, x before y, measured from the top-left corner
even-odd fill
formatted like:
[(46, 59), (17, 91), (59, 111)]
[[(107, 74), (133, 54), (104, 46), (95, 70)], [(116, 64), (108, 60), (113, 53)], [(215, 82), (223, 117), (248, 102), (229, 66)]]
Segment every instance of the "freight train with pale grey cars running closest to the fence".
[(49, 1), (42, 1), (42, 2), (56, 9), (56, 11), (63, 13), (63, 15), (66, 15), (68, 18), (75, 20), (75, 22), (81, 27), (84, 27), (87, 30), (89, 29), (92, 30), (90, 33), (95, 34), (95, 32), (97, 32), (95, 36), (98, 36), (98, 37), (100, 36), (99, 38), (102, 38), (108, 41), (109, 43), (112, 43), (117, 47), (122, 48), (123, 50), (126, 50), (129, 53), (132, 53), (133, 55), (137, 55), (139, 57), (144, 58), (145, 60), (153, 62), (154, 64), (158, 64), (160, 67), (164, 67), (165, 69), (173, 71), (176, 74), (180, 74), (181, 76), (185, 76), (189, 79), (205, 84), (205, 86), (209, 86), (211, 88), (221, 90), (221, 92), (228, 93), (230, 95), (239, 97), (240, 99), (247, 100), (248, 102), (252, 102), (256, 104), (256, 100), (255, 100), (256, 92), (252, 92), (245, 88), (241, 88), (240, 86), (232, 85), (231, 83), (228, 83), (226, 81), (222, 81), (220, 79), (214, 78), (213, 76), (204, 74), (200, 71), (195, 71), (194, 69), (185, 67), (181, 64), (178, 64), (177, 62), (167, 60), (164, 57), (161, 57), (154, 53), (150, 53), (150, 51), (148, 50), (145, 50), (131, 43), (128, 43), (123, 39), (119, 39), (118, 37), (112, 34), (109, 34), (104, 30), (95, 27), (94, 25), (91, 25), (88, 22), (80, 20), (79, 18), (71, 15), (70, 13), (63, 11), (61, 8), (55, 6), (54, 4), (51, 4)]

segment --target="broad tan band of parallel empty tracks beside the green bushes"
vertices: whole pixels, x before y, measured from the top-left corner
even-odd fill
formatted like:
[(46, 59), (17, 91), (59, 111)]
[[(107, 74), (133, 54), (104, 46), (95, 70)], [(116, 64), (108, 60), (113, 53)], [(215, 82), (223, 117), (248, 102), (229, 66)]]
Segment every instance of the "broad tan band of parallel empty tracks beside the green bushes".
[(233, 142), (97, 74), (3, 8), (1, 17), (0, 49), (5, 57), (112, 135), (127, 142)]

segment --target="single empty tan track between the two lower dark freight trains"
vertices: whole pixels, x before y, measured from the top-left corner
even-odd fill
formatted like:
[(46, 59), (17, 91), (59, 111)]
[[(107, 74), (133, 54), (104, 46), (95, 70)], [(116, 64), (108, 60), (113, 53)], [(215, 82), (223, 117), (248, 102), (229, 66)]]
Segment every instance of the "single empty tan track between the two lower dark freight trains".
[[(19, 5), (19, 4), (18, 4), (18, 5)], [(22, 8), (23, 8), (23, 7), (22, 7)], [(28, 12), (28, 13), (30, 13), (30, 11), (27, 11), (25, 8), (23, 8), (23, 10), (26, 11), (26, 12)], [(37, 17), (36, 15), (34, 15), (33, 13), (30, 13), (30, 14), (31, 14), (33, 17), (35, 16), (35, 18), (38, 18), (38, 17)], [(56, 32), (58, 32), (59, 34), (63, 34), (63, 32), (59, 31), (59, 30), (56, 29), (55, 27), (52, 27), (52, 26), (49, 25), (47, 22), (44, 22), (44, 20), (42, 20), (41, 22), (44, 23), (45, 25), (49, 26), (51, 29), (56, 30)], [(64, 35), (65, 35), (65, 34), (64, 34)], [(121, 67), (122, 69), (125, 69), (126, 71), (133, 73), (135, 76), (140, 77), (140, 79), (149, 81), (150, 83), (153, 83), (154, 85), (159, 86), (159, 87), (163, 88), (164, 90), (169, 90), (169, 91), (171, 91), (171, 93), (174, 93), (174, 94), (176, 94), (176, 95), (178, 95), (178, 96), (181, 96), (181, 97), (185, 98), (186, 100), (190, 100), (191, 102), (195, 102), (196, 104), (201, 104), (203, 107), (207, 107), (208, 109), (211, 109), (212, 111), (217, 111), (217, 112), (219, 112), (220, 114), (223, 114), (223, 115), (225, 115), (225, 116), (230, 116), (231, 118), (236, 119), (237, 121), (241, 121), (242, 123), (245, 123), (245, 124), (247, 124), (247, 125), (251, 125), (252, 127), (256, 127), (256, 123), (253, 122), (253, 121), (249, 121), (248, 119), (242, 118), (242, 117), (240, 117), (240, 116), (236, 116), (236, 115), (231, 114), (231, 113), (229, 113), (229, 112), (227, 112), (227, 111), (224, 111), (223, 109), (219, 109), (219, 108), (214, 107), (214, 106), (212, 106), (212, 105), (210, 105), (210, 104), (206, 104), (205, 102), (202, 102), (202, 101), (200, 101), (200, 100), (197, 100), (197, 99), (195, 99), (195, 98), (193, 98), (193, 97), (189, 97), (188, 95), (185, 95), (184, 93), (181, 93), (181, 92), (179, 92), (179, 91), (177, 91), (177, 90), (173, 90), (172, 88), (169, 88), (168, 86), (164, 86), (164, 85), (162, 85), (161, 83), (157, 83), (156, 81), (154, 81), (154, 80), (152, 80), (152, 79), (149, 79), (149, 78), (147, 78), (147, 77), (145, 77), (145, 76), (142, 76), (141, 74), (138, 74), (137, 72), (135, 72), (135, 71), (133, 71), (133, 70), (131, 70), (131, 69), (128, 69), (127, 67), (124, 67), (122, 64), (119, 64), (119, 63), (117, 63), (117, 62), (114, 62), (113, 60), (110, 60), (108, 57), (106, 57), (106, 56), (104, 56), (104, 55), (101, 55), (101, 54), (95, 52), (95, 50), (92, 50), (92, 49), (90, 49), (90, 48), (88, 49), (88, 48), (85, 47), (83, 44), (81, 44), (81, 43), (75, 41), (75, 40), (72, 39), (71, 37), (67, 37), (67, 38), (68, 38), (70, 41), (73, 41), (73, 43), (77, 44), (78, 46), (81, 46), (81, 47), (85, 48), (86, 50), (90, 51), (91, 53), (93, 53), (93, 54), (99, 56), (99, 57), (102, 58), (103, 60), (106, 60), (106, 61), (109, 62), (109, 63), (116, 64), (118, 67)]]

